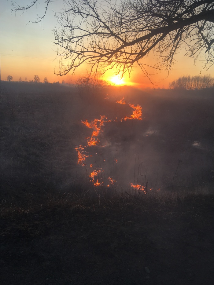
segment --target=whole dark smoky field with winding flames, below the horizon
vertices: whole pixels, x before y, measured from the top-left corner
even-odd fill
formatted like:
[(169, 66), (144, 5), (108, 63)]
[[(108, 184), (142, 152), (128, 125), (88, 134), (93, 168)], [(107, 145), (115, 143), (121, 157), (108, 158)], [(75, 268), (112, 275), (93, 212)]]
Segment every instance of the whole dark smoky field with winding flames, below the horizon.
[(2, 284), (211, 284), (213, 90), (89, 95), (2, 82)]

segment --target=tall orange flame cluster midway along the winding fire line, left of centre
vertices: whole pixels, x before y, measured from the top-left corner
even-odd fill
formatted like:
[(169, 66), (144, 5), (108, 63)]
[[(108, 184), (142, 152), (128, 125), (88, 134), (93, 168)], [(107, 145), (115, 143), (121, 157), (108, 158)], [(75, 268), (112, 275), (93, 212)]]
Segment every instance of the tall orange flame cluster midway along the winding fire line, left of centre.
[(89, 129), (93, 129), (91, 137), (87, 137), (88, 146), (96, 145), (99, 143), (97, 137), (101, 132), (101, 127), (103, 126), (104, 122), (111, 122), (111, 120), (105, 121), (105, 119), (107, 119), (105, 116), (100, 115), (100, 119), (94, 119), (90, 123), (88, 120), (82, 121), (83, 125), (87, 126)]

